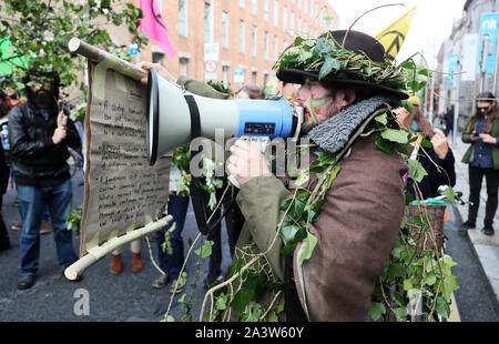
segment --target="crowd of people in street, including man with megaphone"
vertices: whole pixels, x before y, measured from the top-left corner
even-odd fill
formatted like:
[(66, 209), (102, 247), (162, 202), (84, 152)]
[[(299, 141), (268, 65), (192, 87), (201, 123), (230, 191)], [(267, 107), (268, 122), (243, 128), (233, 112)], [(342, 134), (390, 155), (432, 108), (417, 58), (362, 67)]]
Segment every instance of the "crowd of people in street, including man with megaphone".
[[(365, 33), (338, 30), (332, 31), (332, 36), (336, 41), (342, 41), (346, 49), (361, 52), (371, 61), (385, 61), (383, 47)], [(154, 67), (160, 73), (164, 70), (157, 63), (142, 62), (140, 65), (144, 69)], [(436, 198), (440, 185), (456, 184), (455, 155), (447, 141), (448, 130), (455, 129), (448, 127), (448, 130), (442, 131), (432, 128), (419, 109), (419, 99), (416, 95), (409, 98), (409, 94), (390, 85), (358, 79), (338, 81), (334, 74), (319, 81), (318, 73), (299, 68), (279, 70), (277, 78), (282, 82), (279, 94), (304, 108), (306, 125), (303, 125), (302, 136), (308, 136), (317, 143), (317, 150), (333, 154), (348, 152), (340, 156), (342, 172), (326, 191), (322, 216), (308, 227), (319, 239), (317, 246), (312, 259), (303, 265), (297, 264), (303, 245), (297, 245), (295, 256), (282, 254), (284, 244), (279, 237), (275, 237), (276, 226), (282, 217), (281, 206), (293, 191), (265, 163), (261, 163), (264, 156), (258, 150), (243, 140), (236, 140), (230, 151), (227, 170), (237, 180), (240, 189), (233, 195), (236, 201), (224, 203), (224, 211), (220, 210), (215, 215), (215, 224), (207, 227), (206, 236), (213, 242), (213, 252), (204, 285), (208, 289), (223, 279), (223, 213), (232, 259), (237, 257), (236, 247), (255, 242), (255, 252), (265, 252), (273, 274), (284, 283), (285, 320), (361, 321), (369, 308), (376, 276), (383, 272), (399, 231), (405, 208), (404, 176), (407, 175), (408, 165), (399, 154), (388, 154), (377, 149), (374, 135), (358, 132), (359, 128), (366, 128), (360, 124), (378, 109), (390, 107), (395, 109), (397, 125), (418, 133), (418, 140), (413, 142), (408, 153), (410, 159), (419, 159), (427, 172), (418, 185), (425, 199)], [(32, 71), (23, 83), (26, 101), (18, 100), (12, 89), (0, 91), (0, 118), (8, 125), (8, 145), (2, 145), (0, 151), (0, 188), (4, 193), (9, 180), (13, 181), (22, 220), (19, 290), (30, 289), (35, 283), (40, 230), (47, 221), (44, 212), (48, 213), (54, 234), (61, 273), (78, 260), (72, 245), (72, 232), (67, 230), (65, 223), (72, 208), (71, 175), (67, 160), (68, 148), (81, 146), (73, 121), (60, 109), (58, 75)], [(189, 84), (194, 87), (190, 89)], [(202, 82), (184, 85), (193, 93), (220, 97), (215, 94), (217, 91)], [(230, 98), (223, 95), (223, 99)], [(234, 98), (263, 99), (263, 88), (245, 85)], [(413, 103), (411, 112), (400, 107), (400, 101), (405, 99)], [(350, 136), (356, 139), (348, 141)], [(431, 148), (421, 144), (425, 139), (432, 143)], [(464, 226), (476, 227), (485, 176), (487, 204), (482, 231), (486, 235), (495, 234), (492, 224), (498, 208), (498, 141), (496, 97), (489, 92), (480, 93), (476, 110), (462, 133), (462, 142), (470, 144), (462, 158), (462, 162), (469, 163), (470, 180), (469, 214)], [(256, 163), (262, 168), (249, 168)], [(180, 168), (173, 166), (171, 181), (180, 175)], [(226, 185), (228, 182), (224, 183)], [(182, 292), (182, 286), (175, 282), (180, 279), (184, 261), (182, 231), (187, 208), (192, 201), (195, 210), (198, 209), (200, 200), (206, 196), (203, 191), (195, 190), (195, 183), (190, 195), (177, 192), (176, 185), (171, 183), (165, 213), (173, 215), (173, 222), (156, 233), (162, 274), (153, 281), (153, 287), (162, 289), (171, 284), (171, 293)], [(221, 196), (218, 193), (217, 198)], [(170, 240), (171, 250), (164, 249), (165, 237)], [(269, 243), (273, 245), (269, 246)], [(9, 233), (0, 213), (0, 250), (10, 246)], [(131, 245), (134, 272), (143, 269), (141, 246), (141, 240)], [(326, 266), (327, 270), (324, 270)], [(110, 272), (122, 272), (121, 251), (113, 252)]]

